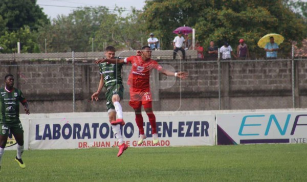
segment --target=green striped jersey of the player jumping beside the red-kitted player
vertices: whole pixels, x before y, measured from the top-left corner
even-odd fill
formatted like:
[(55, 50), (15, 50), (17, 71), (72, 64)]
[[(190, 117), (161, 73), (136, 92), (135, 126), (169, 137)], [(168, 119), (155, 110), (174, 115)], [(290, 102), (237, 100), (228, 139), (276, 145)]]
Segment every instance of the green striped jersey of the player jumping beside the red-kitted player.
[[(121, 58), (118, 58), (121, 59)], [(99, 64), (99, 72), (104, 77), (104, 86), (113, 86), (115, 84), (122, 84), (121, 69), (123, 64), (111, 64), (103, 62)]]

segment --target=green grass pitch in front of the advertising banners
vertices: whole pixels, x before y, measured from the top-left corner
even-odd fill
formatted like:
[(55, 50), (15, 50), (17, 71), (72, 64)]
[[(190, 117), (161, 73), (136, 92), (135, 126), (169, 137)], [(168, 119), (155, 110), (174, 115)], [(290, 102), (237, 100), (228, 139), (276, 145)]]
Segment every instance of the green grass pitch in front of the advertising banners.
[(5, 151), (1, 181), (306, 181), (307, 145)]

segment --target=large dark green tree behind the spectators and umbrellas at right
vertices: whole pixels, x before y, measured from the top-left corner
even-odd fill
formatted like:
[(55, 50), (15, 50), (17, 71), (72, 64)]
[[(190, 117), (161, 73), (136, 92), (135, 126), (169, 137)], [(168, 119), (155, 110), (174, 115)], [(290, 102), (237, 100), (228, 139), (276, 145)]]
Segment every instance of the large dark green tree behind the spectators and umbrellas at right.
[(306, 29), (303, 19), (297, 18), (281, 0), (153, 0), (146, 1), (142, 18), (147, 30), (157, 30), (167, 42), (175, 36), (174, 29), (186, 25), (195, 28), (196, 39), (205, 47), (210, 40), (220, 46), (227, 40), (236, 48), (238, 40), (244, 38), (257, 57), (265, 55), (257, 47), (262, 36), (283, 35), (286, 40), (281, 44), (281, 53), (289, 56), (291, 41), (301, 41)]

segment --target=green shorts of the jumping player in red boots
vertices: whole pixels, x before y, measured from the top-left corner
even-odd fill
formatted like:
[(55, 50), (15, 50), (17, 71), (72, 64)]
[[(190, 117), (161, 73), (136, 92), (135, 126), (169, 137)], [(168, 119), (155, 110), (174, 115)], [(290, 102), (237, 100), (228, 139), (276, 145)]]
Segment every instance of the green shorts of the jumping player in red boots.
[(115, 84), (113, 86), (109, 86), (106, 89), (105, 98), (106, 98), (106, 110), (115, 109), (112, 97), (113, 95), (119, 95), (120, 100), (124, 98), (124, 86), (123, 84)]

